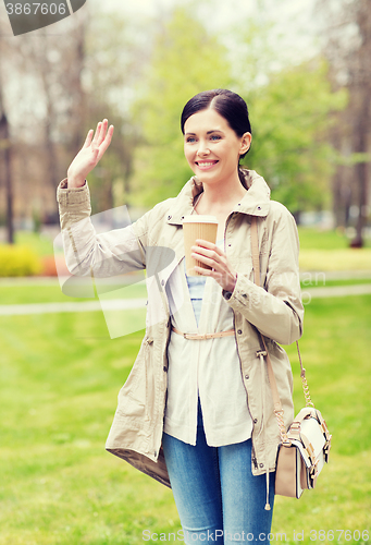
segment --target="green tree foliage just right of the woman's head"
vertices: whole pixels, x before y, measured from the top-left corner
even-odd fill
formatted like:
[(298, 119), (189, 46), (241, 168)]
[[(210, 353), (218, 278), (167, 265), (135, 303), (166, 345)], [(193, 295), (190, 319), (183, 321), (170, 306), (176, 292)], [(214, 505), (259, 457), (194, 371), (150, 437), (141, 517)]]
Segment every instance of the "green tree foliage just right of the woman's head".
[(253, 140), (245, 162), (292, 213), (329, 205), (336, 157), (326, 134), (346, 99), (331, 90), (323, 61), (279, 72), (247, 98)]

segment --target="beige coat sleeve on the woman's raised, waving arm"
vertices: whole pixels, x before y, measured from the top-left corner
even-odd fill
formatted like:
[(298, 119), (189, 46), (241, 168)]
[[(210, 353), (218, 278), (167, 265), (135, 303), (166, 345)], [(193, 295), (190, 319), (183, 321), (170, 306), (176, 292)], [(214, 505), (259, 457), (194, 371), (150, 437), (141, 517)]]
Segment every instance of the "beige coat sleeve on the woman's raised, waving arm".
[(147, 215), (123, 229), (97, 234), (91, 223), (90, 193), (85, 185), (57, 192), (67, 268), (74, 276), (107, 278), (146, 267)]

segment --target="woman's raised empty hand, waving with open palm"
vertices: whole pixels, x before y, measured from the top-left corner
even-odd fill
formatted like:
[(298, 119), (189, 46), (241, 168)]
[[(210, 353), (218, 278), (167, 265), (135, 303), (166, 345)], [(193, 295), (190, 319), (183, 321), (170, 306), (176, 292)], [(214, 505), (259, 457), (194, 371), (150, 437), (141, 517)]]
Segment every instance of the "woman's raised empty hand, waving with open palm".
[(108, 120), (99, 121), (95, 135), (91, 129), (84, 143), (67, 170), (67, 186), (82, 187), (87, 174), (98, 165), (106, 149), (111, 143), (113, 125), (107, 130)]

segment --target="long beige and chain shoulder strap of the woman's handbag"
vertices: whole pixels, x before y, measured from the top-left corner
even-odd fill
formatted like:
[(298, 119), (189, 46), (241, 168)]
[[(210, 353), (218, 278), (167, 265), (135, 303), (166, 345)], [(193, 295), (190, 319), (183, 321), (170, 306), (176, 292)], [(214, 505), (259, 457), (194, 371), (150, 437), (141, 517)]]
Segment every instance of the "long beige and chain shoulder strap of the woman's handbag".
[[(253, 281), (257, 286), (260, 287), (260, 264), (259, 264), (259, 239), (258, 239), (258, 223), (257, 223), (257, 217), (251, 216), (251, 254), (252, 254), (252, 269), (253, 269)], [(285, 427), (285, 422), (284, 422), (284, 411), (282, 408), (280, 395), (279, 395), (279, 389), (277, 385), (275, 382), (275, 376), (272, 367), (272, 362), (271, 358), (269, 355), (269, 352), (267, 350), (267, 344), (264, 337), (262, 334), (258, 330), (259, 337), (262, 341), (262, 344), (264, 347), (263, 350), (258, 350), (257, 355), (259, 358), (267, 358), (267, 371), (268, 371), (268, 377), (269, 382), (271, 385), (271, 390), (272, 390), (272, 396), (273, 396), (273, 403), (274, 403), (274, 414), (277, 419), (277, 424), (280, 428), (280, 435), (281, 435), (281, 441), (283, 445), (290, 445), (290, 440), (287, 436), (286, 427)], [(306, 399), (306, 407), (314, 407), (312, 403), (312, 400), (310, 398), (310, 392), (309, 392), (309, 386), (307, 383), (307, 377), (306, 377), (306, 370), (302, 366), (301, 362), (301, 355), (300, 355), (300, 350), (299, 350), (299, 343), (296, 341), (296, 347), (298, 351), (298, 356), (299, 356), (299, 362), (300, 362), (300, 377), (301, 377), (301, 384), (302, 384), (302, 391), (304, 396)]]

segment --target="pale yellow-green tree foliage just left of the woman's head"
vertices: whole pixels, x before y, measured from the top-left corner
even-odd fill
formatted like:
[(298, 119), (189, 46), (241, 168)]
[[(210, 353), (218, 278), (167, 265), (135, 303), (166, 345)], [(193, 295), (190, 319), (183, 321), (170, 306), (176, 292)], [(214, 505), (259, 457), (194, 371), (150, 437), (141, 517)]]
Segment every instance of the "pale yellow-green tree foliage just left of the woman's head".
[(230, 82), (225, 49), (185, 8), (175, 9), (157, 37), (147, 84), (135, 106), (144, 137), (133, 180), (136, 204), (151, 206), (174, 196), (190, 178), (180, 129), (183, 107), (197, 93)]

